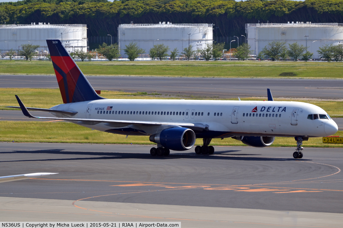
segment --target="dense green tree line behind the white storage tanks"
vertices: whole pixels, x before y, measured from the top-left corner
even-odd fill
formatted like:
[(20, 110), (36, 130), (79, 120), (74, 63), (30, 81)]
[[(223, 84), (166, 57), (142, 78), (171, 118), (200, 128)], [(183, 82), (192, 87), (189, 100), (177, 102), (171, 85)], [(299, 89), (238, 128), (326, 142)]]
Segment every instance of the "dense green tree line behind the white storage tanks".
[(246, 23), (342, 22), (343, 0), (24, 0), (0, 4), (0, 24), (87, 24), (88, 36), (117, 35), (119, 24), (213, 23), (214, 35), (245, 33)]

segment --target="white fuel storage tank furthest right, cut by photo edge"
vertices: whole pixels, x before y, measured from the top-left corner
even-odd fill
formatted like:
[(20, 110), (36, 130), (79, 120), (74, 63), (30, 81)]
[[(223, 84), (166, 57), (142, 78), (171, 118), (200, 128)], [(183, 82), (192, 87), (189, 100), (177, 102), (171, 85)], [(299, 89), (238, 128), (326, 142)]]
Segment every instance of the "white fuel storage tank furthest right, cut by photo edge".
[(325, 44), (343, 43), (343, 24), (339, 23), (268, 23), (246, 24), (248, 44), (253, 54), (258, 55), (262, 49), (272, 41), (284, 41), (287, 44), (297, 42), (307, 46), (307, 50), (319, 57), (318, 50)]

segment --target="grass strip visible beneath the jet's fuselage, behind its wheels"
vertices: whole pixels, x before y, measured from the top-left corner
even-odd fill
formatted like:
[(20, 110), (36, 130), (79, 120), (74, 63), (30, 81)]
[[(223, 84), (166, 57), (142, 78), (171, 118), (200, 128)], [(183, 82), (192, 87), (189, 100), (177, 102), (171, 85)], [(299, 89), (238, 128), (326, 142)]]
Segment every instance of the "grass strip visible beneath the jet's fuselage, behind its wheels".
[[(84, 126), (66, 122), (0, 121), (1, 142), (93, 143), (93, 144), (149, 144), (149, 136), (128, 136), (93, 131)], [(342, 135), (339, 131), (335, 135)], [(202, 145), (202, 139), (196, 140)], [(232, 138), (212, 139), (213, 146), (246, 146)], [(322, 138), (309, 138), (304, 147), (343, 148), (343, 144), (323, 144)], [(276, 137), (271, 147), (296, 147), (294, 138)]]

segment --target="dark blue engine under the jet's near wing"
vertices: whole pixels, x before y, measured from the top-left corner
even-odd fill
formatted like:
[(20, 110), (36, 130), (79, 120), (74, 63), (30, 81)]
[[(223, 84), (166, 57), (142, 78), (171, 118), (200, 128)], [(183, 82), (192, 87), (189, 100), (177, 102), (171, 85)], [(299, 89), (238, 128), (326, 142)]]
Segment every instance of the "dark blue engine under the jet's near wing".
[(195, 134), (189, 128), (168, 128), (150, 135), (151, 142), (161, 144), (170, 150), (188, 150), (194, 146)]

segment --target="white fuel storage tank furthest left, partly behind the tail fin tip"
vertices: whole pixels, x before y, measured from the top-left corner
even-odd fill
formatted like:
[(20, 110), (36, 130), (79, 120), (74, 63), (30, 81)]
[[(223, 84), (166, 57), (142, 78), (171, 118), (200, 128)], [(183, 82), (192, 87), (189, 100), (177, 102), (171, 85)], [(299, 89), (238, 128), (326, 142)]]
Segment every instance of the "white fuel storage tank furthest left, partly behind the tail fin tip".
[(38, 51), (48, 51), (47, 39), (59, 39), (67, 51), (87, 51), (87, 25), (0, 25), (0, 49), (21, 50), (23, 44), (40, 45)]

